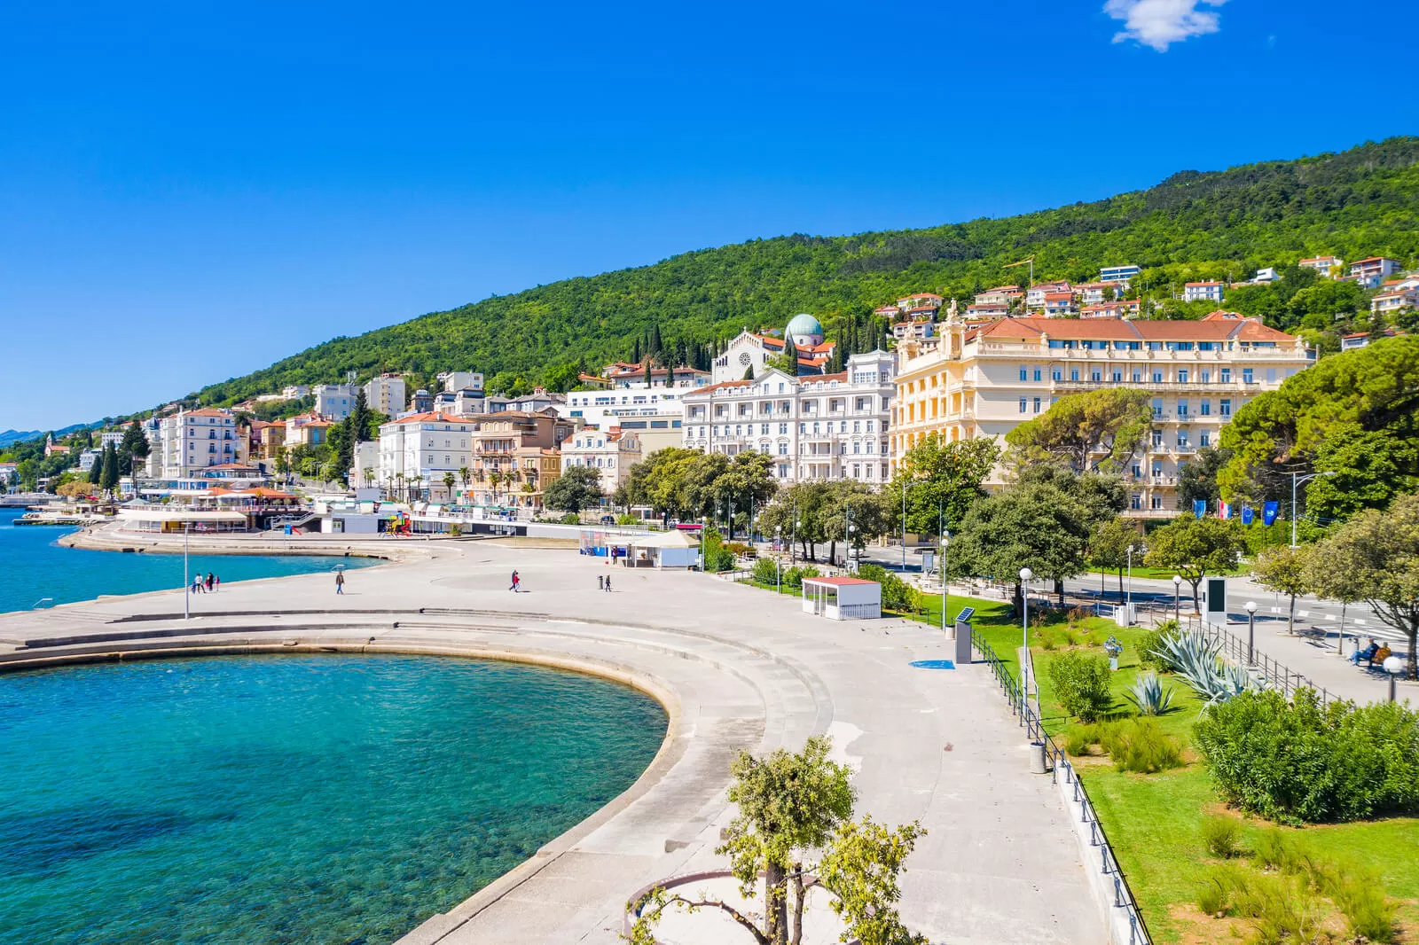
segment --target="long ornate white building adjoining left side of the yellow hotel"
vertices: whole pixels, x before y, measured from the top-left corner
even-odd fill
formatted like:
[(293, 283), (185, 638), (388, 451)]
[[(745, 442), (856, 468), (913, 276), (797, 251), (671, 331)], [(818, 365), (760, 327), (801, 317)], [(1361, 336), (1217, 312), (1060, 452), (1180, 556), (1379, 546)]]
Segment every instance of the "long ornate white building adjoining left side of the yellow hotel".
[(887, 477), (893, 355), (851, 355), (836, 375), (795, 377), (768, 369), (753, 380), (727, 380), (687, 393), (684, 446), (735, 455), (775, 457), (782, 482)]

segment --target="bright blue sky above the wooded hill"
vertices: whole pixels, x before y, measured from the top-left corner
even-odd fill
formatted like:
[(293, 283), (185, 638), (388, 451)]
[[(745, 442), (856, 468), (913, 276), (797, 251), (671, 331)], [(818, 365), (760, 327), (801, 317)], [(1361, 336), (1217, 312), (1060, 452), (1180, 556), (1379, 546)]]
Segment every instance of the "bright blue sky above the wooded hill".
[(1416, 131), (1386, 0), (403, 7), (0, 6), (0, 430), (685, 250)]

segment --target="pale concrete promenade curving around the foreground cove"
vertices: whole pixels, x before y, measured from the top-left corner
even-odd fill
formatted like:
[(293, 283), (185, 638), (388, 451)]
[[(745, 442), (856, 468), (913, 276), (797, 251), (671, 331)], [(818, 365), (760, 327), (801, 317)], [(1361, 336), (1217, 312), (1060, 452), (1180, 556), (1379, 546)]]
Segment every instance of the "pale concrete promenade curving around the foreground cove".
[[(0, 616), (0, 663), (192, 648), (453, 653), (596, 671), (667, 705), (667, 741), (630, 790), (404, 945), (617, 941), (634, 890), (725, 866), (714, 846), (732, 816), (734, 753), (796, 749), (815, 732), (858, 770), (860, 813), (927, 827), (901, 908), (932, 942), (1107, 941), (1059, 792), (1029, 773), (986, 667), (910, 665), (951, 657), (939, 630), (833, 623), (795, 597), (607, 568), (568, 549), (436, 541), (420, 551), (348, 573), (342, 596), (329, 575), (223, 585), (192, 599), (187, 621), (182, 592)], [(514, 568), (519, 595), (508, 590)], [(612, 576), (612, 593), (597, 575)]]

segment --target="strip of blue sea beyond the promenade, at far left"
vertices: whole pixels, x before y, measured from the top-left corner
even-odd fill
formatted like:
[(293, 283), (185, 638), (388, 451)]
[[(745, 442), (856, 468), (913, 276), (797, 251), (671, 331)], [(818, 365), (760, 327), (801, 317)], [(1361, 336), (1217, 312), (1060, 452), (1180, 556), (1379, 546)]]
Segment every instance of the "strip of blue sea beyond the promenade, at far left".
[[(53, 525), (13, 525), (24, 509), (0, 509), (0, 612), (28, 610), (41, 597), (54, 603), (92, 600), (99, 595), (136, 595), (182, 587), (182, 555), (125, 555), (55, 542), (75, 531)], [(280, 578), (331, 570), (336, 565), (362, 568), (368, 558), (311, 555), (190, 555), (190, 573), (211, 572), (223, 583), (251, 578)]]

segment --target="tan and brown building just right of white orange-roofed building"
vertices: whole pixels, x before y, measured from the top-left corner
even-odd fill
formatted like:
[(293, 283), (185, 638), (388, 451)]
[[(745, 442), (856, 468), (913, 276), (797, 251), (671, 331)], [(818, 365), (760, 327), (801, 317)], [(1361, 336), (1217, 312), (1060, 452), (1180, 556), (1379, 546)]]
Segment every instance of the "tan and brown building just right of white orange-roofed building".
[(551, 411), (490, 413), (473, 434), (473, 485), (478, 505), (535, 512), (542, 492), (562, 475), (558, 446), (578, 427)]

